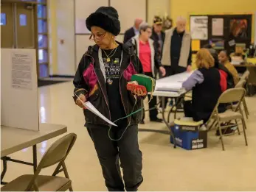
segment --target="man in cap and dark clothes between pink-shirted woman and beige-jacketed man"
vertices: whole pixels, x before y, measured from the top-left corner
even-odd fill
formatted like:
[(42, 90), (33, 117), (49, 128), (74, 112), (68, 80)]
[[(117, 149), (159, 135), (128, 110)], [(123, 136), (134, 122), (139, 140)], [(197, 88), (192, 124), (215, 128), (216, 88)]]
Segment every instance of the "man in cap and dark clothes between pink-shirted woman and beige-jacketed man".
[(160, 61), (162, 55), (162, 46), (165, 41), (165, 32), (162, 31), (162, 18), (159, 18), (158, 16), (155, 16), (153, 19), (151, 39), (153, 40), (153, 47), (156, 50), (156, 57)]

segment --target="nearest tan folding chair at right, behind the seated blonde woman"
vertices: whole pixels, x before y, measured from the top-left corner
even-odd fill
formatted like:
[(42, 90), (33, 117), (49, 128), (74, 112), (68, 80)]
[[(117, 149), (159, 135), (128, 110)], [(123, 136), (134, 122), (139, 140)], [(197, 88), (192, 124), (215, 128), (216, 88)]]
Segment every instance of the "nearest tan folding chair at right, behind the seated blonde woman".
[[(241, 110), (241, 102), (244, 99), (244, 96), (246, 95), (246, 90), (244, 88), (232, 88), (224, 91), (224, 93), (221, 94), (220, 98), (218, 99), (218, 103), (215, 105), (214, 110), (212, 111), (212, 114), (210, 116), (209, 121), (207, 122), (207, 127), (210, 124), (210, 121), (213, 120), (211, 126), (208, 128), (208, 131), (212, 128), (212, 125), (215, 124), (217, 121), (217, 129), (220, 132), (220, 139), (221, 139), (221, 144), (222, 144), (222, 149), (225, 150), (224, 148), (224, 141), (223, 141), (223, 135), (221, 130), (222, 129), (227, 129), (229, 127), (233, 127), (234, 125), (224, 125), (222, 126), (221, 123), (223, 122), (231, 122), (232, 120), (235, 121), (235, 124), (238, 126), (238, 119), (241, 119), (242, 125), (243, 125), (243, 135), (244, 135), (244, 140), (246, 142), (246, 146), (248, 145), (247, 143), (247, 138), (246, 138), (246, 122), (243, 117), (243, 112)], [(218, 113), (218, 107), (220, 104), (231, 104), (234, 102), (238, 102), (237, 107), (231, 107), (230, 110), (226, 110), (224, 113)], [(240, 135), (240, 129), (238, 127), (238, 134)]]

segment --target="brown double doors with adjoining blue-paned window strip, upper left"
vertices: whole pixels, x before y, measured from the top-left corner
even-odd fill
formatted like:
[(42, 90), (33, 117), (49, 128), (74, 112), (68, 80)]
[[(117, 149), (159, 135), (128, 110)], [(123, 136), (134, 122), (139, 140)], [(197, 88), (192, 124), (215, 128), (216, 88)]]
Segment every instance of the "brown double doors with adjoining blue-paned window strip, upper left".
[(46, 0), (1, 1), (1, 48), (36, 49), (38, 78), (49, 77)]

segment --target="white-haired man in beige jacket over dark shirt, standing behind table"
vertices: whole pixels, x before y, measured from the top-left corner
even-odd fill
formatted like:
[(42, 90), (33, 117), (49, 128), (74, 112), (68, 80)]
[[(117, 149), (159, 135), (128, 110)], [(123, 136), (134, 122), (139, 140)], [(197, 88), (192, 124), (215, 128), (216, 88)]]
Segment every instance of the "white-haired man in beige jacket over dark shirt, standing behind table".
[(191, 35), (185, 30), (186, 24), (186, 19), (179, 17), (176, 27), (165, 31), (161, 63), (165, 66), (166, 77), (192, 70)]

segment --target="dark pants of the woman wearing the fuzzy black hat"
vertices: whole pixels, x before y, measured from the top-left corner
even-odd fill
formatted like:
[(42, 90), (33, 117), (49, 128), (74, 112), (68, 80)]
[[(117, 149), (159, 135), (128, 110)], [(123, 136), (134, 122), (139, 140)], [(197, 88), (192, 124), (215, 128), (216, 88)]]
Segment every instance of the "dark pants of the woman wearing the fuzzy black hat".
[[(124, 191), (124, 188), (126, 191), (137, 191), (143, 181), (138, 126), (128, 127), (120, 141), (111, 141), (108, 138), (108, 129), (109, 127), (103, 126), (87, 126), (100, 160), (105, 185), (108, 191)], [(112, 127), (111, 138), (120, 138), (124, 129), (125, 127)], [(120, 162), (125, 186), (122, 182)]]

